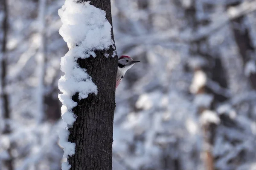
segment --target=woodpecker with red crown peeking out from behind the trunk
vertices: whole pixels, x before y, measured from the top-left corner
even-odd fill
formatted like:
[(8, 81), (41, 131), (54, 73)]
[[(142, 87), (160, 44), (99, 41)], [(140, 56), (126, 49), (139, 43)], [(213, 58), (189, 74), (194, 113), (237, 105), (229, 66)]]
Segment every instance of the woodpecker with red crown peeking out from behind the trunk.
[(122, 55), (118, 59), (118, 69), (116, 75), (116, 88), (121, 83), (122, 79), (124, 78), (125, 72), (130, 69), (135, 63), (140, 61), (134, 61), (131, 57)]

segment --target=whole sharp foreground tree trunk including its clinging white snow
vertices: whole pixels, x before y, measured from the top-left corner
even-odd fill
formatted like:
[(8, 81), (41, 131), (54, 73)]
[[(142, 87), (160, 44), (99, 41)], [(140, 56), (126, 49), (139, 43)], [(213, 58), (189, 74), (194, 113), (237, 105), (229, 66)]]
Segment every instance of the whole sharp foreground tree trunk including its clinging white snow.
[(117, 55), (110, 0), (66, 0), (59, 9), (60, 35), (69, 51), (61, 58), (58, 86), (60, 132), (67, 162), (62, 170), (112, 169), (113, 113)]

